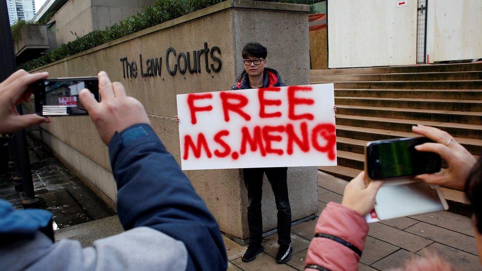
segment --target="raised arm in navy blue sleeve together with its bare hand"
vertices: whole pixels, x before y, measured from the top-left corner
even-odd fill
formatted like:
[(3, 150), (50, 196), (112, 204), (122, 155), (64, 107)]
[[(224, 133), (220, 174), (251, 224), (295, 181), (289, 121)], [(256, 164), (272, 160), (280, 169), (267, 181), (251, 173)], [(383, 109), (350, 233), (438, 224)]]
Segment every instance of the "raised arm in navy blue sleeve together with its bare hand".
[[(127, 96), (122, 83), (112, 82), (107, 73), (97, 77), (100, 102), (88, 89), (80, 91), (79, 99), (109, 146), (124, 229), (149, 227), (182, 241), (188, 270), (226, 269), (216, 220), (154, 133), (142, 104)], [(165, 248), (169, 244), (160, 250)]]

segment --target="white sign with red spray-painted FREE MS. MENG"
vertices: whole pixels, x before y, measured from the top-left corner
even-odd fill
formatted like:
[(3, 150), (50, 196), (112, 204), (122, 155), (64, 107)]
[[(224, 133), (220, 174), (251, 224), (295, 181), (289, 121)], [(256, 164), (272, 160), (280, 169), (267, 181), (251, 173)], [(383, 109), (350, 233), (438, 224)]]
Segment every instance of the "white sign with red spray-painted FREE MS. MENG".
[(336, 165), (333, 84), (177, 95), (181, 167)]

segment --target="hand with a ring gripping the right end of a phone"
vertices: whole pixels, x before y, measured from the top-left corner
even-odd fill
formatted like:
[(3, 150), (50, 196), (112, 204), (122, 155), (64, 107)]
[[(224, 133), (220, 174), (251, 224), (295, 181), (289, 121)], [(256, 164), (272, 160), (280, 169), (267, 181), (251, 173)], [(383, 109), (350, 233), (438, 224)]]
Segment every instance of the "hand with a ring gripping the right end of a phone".
[(476, 158), (445, 131), (424, 125), (413, 126), (412, 130), (435, 141), (415, 146), (417, 151), (437, 153), (448, 164), (448, 168), (439, 173), (417, 175), (415, 178), (428, 184), (463, 189)]

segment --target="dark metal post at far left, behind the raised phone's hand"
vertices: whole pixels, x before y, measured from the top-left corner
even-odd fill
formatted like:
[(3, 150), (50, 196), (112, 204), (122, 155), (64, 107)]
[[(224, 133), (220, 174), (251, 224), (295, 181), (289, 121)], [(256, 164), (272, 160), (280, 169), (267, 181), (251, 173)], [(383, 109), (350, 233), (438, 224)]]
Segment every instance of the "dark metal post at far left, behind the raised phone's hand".
[[(2, 37), (0, 39), (0, 81), (3, 81), (17, 70), (6, 1), (0, 1), (0, 37)], [(17, 106), (17, 110), (19, 114), (23, 113), (21, 106)], [(24, 190), (22, 205), (24, 208), (35, 208), (39, 206), (39, 199), (35, 197), (25, 130), (15, 132), (14, 137), (17, 145), (16, 152), (14, 152), (17, 156), (16, 162), (18, 161), (16, 166), (20, 169)]]

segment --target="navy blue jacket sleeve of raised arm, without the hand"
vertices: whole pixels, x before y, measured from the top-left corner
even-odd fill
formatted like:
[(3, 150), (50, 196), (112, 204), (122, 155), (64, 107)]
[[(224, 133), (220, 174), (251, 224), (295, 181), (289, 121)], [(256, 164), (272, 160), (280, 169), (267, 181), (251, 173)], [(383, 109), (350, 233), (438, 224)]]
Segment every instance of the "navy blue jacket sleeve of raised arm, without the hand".
[(125, 230), (150, 227), (184, 242), (188, 270), (226, 270), (216, 220), (150, 125), (116, 133), (109, 155)]

